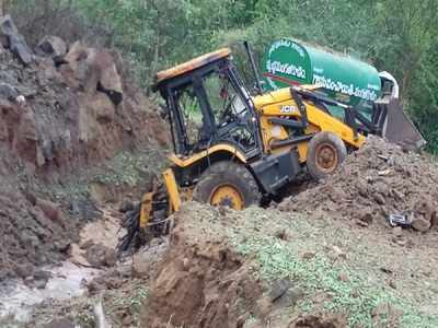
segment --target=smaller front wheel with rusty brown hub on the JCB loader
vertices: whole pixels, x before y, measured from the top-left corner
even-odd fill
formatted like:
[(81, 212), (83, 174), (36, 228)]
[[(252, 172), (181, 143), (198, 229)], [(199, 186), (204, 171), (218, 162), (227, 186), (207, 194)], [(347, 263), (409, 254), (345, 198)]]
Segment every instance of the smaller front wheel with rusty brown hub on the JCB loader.
[(319, 132), (308, 145), (307, 166), (315, 179), (327, 177), (347, 156), (344, 141), (333, 132)]

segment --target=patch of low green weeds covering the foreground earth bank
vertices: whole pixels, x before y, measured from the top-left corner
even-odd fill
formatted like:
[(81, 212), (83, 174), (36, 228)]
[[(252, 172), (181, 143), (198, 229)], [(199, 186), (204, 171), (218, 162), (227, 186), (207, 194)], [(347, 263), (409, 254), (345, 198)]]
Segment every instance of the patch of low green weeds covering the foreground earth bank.
[[(276, 237), (254, 237), (239, 245), (238, 250), (243, 255), (255, 254), (265, 280), (290, 278), (302, 288), (307, 296), (299, 305), (304, 313), (311, 313), (315, 307), (311, 297), (323, 292), (326, 300), (322, 308), (339, 314), (347, 311), (349, 327), (374, 327), (372, 312), (382, 304), (402, 309), (402, 327), (438, 327), (438, 317), (420, 314), (383, 284), (370, 284), (364, 273), (355, 271), (346, 263), (333, 265), (322, 254), (316, 254), (312, 259), (302, 259), (295, 251), (298, 248), (295, 246)], [(346, 281), (339, 279), (339, 274), (345, 274)], [(380, 324), (385, 323), (384, 315), (379, 318)]]

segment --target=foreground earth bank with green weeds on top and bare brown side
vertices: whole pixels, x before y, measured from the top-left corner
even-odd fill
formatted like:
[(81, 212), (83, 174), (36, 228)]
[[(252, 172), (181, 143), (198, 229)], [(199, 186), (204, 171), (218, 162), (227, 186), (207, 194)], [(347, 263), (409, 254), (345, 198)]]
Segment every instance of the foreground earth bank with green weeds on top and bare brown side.
[[(186, 203), (140, 327), (435, 327), (436, 235), (277, 209)], [(429, 285), (427, 290), (424, 285)]]

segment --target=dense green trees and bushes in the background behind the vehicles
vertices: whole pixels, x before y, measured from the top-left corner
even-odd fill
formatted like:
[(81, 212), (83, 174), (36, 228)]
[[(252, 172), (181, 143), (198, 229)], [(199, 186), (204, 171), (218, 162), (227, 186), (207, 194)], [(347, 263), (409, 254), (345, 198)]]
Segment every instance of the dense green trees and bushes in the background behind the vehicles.
[[(257, 54), (270, 39), (280, 36), (349, 52), (395, 75), (401, 84), (405, 108), (419, 125), (429, 142), (429, 150), (438, 152), (436, 0), (7, 2), (14, 4), (11, 11), (22, 16), (20, 25), (25, 27), (27, 34), (62, 31), (55, 23), (51, 24), (53, 31), (47, 27), (50, 26), (48, 21), (60, 16), (60, 26), (68, 25), (68, 17), (71, 21), (74, 19), (81, 26), (78, 32), (65, 33), (67, 38), (87, 35), (83, 26), (93, 32), (101, 26), (99, 31), (105, 39), (104, 44), (122, 50), (131, 60), (132, 72), (145, 85), (150, 84), (159, 69), (242, 39), (252, 42)], [(61, 14), (49, 14), (53, 12)], [(239, 56), (242, 52), (237, 54), (237, 60), (243, 62), (244, 59)]]

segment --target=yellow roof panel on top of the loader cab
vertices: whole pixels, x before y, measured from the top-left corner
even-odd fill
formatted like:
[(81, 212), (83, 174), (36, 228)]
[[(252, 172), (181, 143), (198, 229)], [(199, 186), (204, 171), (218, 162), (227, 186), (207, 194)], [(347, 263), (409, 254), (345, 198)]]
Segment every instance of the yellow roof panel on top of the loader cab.
[(203, 66), (206, 66), (218, 59), (229, 57), (230, 55), (231, 55), (231, 50), (229, 48), (221, 48), (219, 50), (196, 57), (189, 61), (180, 63), (173, 68), (158, 72), (155, 75), (155, 85), (160, 84), (161, 82), (163, 82), (165, 80), (173, 79), (173, 78), (182, 75), (188, 71), (192, 71), (192, 70), (195, 70)]

